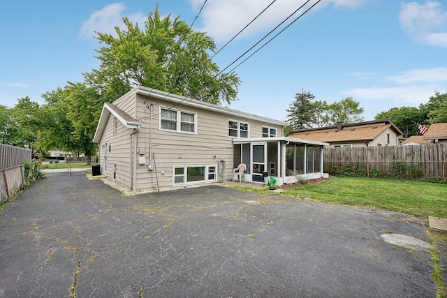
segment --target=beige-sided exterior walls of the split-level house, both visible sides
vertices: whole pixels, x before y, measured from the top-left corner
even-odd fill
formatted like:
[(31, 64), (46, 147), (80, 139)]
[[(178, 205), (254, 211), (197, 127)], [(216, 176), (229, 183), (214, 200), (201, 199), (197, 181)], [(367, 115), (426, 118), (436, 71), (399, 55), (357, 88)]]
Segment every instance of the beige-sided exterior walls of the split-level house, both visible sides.
[[(135, 132), (133, 128), (126, 128), (118, 121), (117, 135), (113, 135), (114, 116), (110, 114), (99, 144), (101, 172), (113, 179), (113, 167), (116, 165), (115, 181), (133, 191), (176, 187), (177, 185), (173, 184), (174, 166), (214, 166), (216, 169), (214, 181), (233, 179), (233, 137), (228, 137), (229, 120), (249, 124), (249, 137), (262, 137), (263, 126), (276, 128), (277, 136), (283, 136), (283, 128), (279, 125), (189, 105), (177, 107), (177, 110), (196, 114), (196, 133), (165, 131), (161, 130), (159, 125), (160, 107), (168, 109), (172, 107), (175, 110), (174, 103), (133, 94), (128, 98), (119, 98), (113, 104), (134, 119), (141, 120), (143, 124), (138, 132)], [(136, 143), (131, 137), (132, 133)], [(151, 139), (152, 145), (149, 142)], [(267, 137), (265, 139), (268, 140)], [(107, 151), (106, 171), (105, 148), (103, 148), (105, 143), (111, 146), (110, 152)], [(145, 165), (138, 165), (138, 158), (145, 158)], [(223, 165), (225, 167), (221, 177), (219, 170)], [(203, 181), (200, 184), (203, 184)]]

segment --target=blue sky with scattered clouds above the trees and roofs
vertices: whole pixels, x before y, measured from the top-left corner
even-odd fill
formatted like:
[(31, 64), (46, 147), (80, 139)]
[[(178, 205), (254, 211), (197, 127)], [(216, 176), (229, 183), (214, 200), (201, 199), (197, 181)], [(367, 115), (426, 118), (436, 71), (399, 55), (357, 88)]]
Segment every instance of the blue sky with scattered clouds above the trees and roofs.
[[(203, 2), (159, 0), (159, 10), (191, 24)], [(207, 32), (220, 48), (271, 2), (208, 0), (193, 28)], [(42, 104), (46, 91), (64, 87), (67, 81), (82, 82), (82, 73), (99, 66), (94, 50), (101, 45), (94, 31), (113, 33), (122, 25), (122, 16), (142, 24), (156, 3), (2, 3), (0, 104), (13, 107), (25, 96)], [(214, 61), (225, 68), (302, 3), (275, 1)], [(288, 105), (304, 89), (328, 103), (351, 96), (365, 109), (368, 121), (391, 107), (418, 107), (434, 91), (446, 93), (446, 57), (444, 1), (322, 0), (235, 69), (242, 84), (230, 107), (286, 120)]]

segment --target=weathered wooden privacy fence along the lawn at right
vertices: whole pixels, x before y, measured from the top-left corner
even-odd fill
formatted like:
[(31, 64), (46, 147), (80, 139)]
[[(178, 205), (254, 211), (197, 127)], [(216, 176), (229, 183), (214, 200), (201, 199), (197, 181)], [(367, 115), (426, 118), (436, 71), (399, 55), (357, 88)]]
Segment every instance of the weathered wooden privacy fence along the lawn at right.
[(441, 177), (447, 174), (446, 144), (381, 147), (328, 147), (324, 172), (374, 176)]

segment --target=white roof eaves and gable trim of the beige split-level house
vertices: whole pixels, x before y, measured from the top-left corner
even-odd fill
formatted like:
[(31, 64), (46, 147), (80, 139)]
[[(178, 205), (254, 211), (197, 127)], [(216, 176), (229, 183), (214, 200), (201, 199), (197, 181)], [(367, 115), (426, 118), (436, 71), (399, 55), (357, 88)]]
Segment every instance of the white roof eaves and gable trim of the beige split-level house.
[[(258, 116), (255, 114), (250, 114), (247, 112), (241, 112), (238, 110), (230, 109), (229, 107), (222, 107), (221, 105), (214, 105), (212, 103), (205, 103), (204, 101), (196, 100), (193, 98), (179, 96), (177, 94), (172, 94), (166, 91), (160, 91), (153, 88), (138, 86), (132, 89), (131, 91), (124, 94), (124, 96), (131, 96), (133, 94), (139, 94), (142, 96), (150, 96), (152, 98), (157, 98), (159, 100), (163, 100), (163, 102), (170, 102), (173, 109), (189, 106), (189, 107), (198, 107), (203, 110), (209, 110), (214, 112), (219, 112), (221, 114), (228, 114), (230, 117), (242, 117), (244, 119), (253, 119), (256, 121), (263, 121), (270, 124), (286, 126), (285, 121), (279, 121), (276, 119), (271, 119), (267, 117)], [(117, 98), (118, 99), (118, 98)], [(266, 107), (267, 108), (267, 107)], [(138, 126), (143, 123), (138, 119), (133, 119), (129, 114), (126, 114), (122, 110), (120, 110), (117, 106), (112, 103), (105, 103), (103, 106), (103, 110), (101, 112), (101, 117), (98, 122), (98, 126), (96, 127), (96, 133), (93, 138), (93, 142), (97, 143), (101, 139), (101, 135), (105, 128), (105, 124), (107, 123), (107, 119), (109, 115), (113, 114), (119, 121), (121, 121), (128, 128), (138, 128)]]

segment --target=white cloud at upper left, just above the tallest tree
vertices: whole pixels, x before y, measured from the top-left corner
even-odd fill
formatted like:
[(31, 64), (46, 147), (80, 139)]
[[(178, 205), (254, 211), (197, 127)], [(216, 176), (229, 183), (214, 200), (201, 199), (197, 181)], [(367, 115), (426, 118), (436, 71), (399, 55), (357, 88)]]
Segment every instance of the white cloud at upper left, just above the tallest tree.
[(89, 20), (82, 25), (80, 36), (93, 38), (96, 36), (95, 31), (115, 35), (115, 27), (124, 27), (122, 21), (124, 16), (128, 17), (133, 24), (138, 23), (140, 27), (147, 20), (147, 16), (142, 13), (123, 15), (124, 10), (126, 10), (124, 3), (112, 3), (101, 10), (96, 10), (90, 15)]

